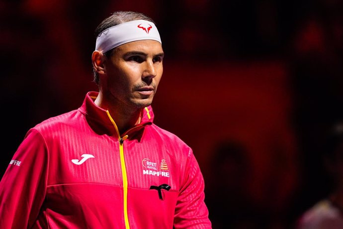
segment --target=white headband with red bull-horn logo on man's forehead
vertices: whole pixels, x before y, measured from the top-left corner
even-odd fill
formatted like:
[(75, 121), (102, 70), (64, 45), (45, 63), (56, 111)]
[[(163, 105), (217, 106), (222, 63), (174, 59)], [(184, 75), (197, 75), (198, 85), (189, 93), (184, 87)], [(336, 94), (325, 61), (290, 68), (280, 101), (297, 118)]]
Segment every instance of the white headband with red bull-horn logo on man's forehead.
[(147, 20), (124, 22), (102, 31), (96, 38), (95, 50), (103, 53), (136, 40), (156, 40), (162, 44), (155, 24)]

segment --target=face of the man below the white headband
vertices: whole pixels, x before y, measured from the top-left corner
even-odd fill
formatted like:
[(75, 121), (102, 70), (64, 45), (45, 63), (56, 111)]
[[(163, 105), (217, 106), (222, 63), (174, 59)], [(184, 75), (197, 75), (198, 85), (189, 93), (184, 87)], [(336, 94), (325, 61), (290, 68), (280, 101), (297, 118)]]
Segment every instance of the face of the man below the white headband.
[(133, 41), (116, 47), (104, 63), (105, 97), (111, 105), (140, 109), (151, 105), (162, 77), (161, 43)]

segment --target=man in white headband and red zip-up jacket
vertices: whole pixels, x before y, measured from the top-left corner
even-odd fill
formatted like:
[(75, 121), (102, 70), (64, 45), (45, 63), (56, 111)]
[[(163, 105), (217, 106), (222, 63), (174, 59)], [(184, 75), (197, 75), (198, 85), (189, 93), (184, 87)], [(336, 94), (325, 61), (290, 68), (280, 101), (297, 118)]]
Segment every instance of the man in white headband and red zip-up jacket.
[(0, 228), (211, 228), (192, 150), (153, 124), (154, 21), (118, 11), (96, 33), (99, 92), (27, 132), (0, 182)]

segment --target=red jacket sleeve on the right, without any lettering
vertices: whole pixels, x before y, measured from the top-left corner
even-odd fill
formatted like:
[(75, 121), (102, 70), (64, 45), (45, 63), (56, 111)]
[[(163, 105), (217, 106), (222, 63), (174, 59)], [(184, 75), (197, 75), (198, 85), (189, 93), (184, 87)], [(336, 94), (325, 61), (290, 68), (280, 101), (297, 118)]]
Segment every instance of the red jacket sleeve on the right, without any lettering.
[(174, 229), (211, 229), (204, 199), (204, 179), (199, 165), (189, 151), (184, 180), (177, 199)]

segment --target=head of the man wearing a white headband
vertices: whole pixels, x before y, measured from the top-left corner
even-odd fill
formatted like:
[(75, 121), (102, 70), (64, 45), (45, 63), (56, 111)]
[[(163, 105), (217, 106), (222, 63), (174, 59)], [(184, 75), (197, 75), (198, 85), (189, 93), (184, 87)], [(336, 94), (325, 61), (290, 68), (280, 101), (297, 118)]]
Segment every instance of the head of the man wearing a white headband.
[(118, 11), (104, 19), (96, 33), (94, 81), (105, 102), (134, 109), (149, 106), (162, 77), (164, 56), (153, 20)]

